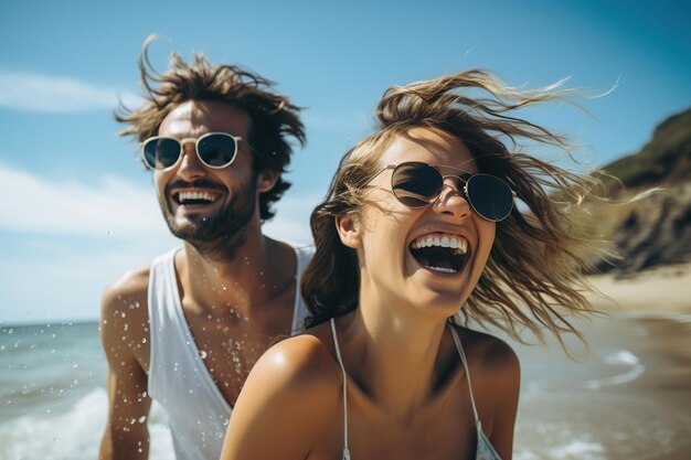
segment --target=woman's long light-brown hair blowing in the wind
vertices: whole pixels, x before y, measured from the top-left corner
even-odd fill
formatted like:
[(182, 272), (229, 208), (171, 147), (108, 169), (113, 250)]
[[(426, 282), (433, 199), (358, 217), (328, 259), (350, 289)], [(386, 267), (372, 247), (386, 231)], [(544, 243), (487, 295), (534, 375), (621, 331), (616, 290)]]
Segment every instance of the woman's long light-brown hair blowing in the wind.
[(514, 207), (497, 223), (485, 271), (455, 321), (489, 323), (519, 341), (524, 340), (520, 336), (524, 328), (541, 342), (544, 328), (560, 342), (564, 332), (581, 338), (566, 317), (591, 311), (583, 293), (593, 288), (582, 272), (592, 268), (597, 248), (574, 225), (574, 211), (586, 196), (604, 200), (604, 188), (597, 173), (570, 172), (518, 151), (519, 141), (566, 152), (570, 146), (561, 136), (508, 115), (545, 101), (575, 104), (580, 92), (559, 89), (562, 83), (519, 90), (488, 72), (471, 69), (389, 88), (376, 108), (376, 131), (343, 157), (325, 202), (312, 212), (316, 254), (301, 285), (312, 314), (308, 325), (358, 307), (358, 257), (341, 243), (336, 217), (358, 213), (368, 202), (368, 184), (394, 139), (425, 127), (460, 139), (478, 170), (503, 179), (527, 206)]

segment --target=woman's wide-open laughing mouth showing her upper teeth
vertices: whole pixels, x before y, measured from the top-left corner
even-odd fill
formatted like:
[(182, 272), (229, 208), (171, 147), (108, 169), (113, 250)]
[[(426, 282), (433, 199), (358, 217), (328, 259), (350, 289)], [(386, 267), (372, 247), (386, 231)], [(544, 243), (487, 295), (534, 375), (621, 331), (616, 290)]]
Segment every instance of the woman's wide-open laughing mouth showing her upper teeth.
[(442, 274), (457, 274), (470, 256), (468, 240), (447, 233), (429, 233), (411, 243), (411, 254), (419, 265)]

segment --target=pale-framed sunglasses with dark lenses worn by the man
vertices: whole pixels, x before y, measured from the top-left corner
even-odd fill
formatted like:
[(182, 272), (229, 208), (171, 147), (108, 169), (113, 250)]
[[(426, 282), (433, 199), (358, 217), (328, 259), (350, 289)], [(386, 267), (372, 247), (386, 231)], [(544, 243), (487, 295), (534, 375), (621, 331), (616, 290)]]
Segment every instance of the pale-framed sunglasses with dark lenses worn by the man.
[(209, 132), (196, 139), (185, 138), (182, 140), (156, 136), (141, 143), (141, 157), (147, 167), (166, 170), (178, 164), (185, 143), (194, 142), (194, 151), (199, 161), (204, 163), (206, 168), (222, 169), (235, 160), (241, 140), (241, 137), (226, 132)]

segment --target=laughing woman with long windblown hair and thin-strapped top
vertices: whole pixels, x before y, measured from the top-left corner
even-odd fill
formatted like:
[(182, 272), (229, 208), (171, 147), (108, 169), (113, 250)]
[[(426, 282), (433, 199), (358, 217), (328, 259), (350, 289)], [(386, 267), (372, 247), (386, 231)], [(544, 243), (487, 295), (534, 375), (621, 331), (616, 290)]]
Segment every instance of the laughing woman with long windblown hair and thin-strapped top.
[(311, 329), (256, 364), (222, 459), (511, 459), (519, 362), (465, 325), (577, 334), (589, 244), (571, 217), (597, 183), (513, 152), (567, 146), (508, 115), (568, 98), (482, 71), (385, 93), (311, 217)]

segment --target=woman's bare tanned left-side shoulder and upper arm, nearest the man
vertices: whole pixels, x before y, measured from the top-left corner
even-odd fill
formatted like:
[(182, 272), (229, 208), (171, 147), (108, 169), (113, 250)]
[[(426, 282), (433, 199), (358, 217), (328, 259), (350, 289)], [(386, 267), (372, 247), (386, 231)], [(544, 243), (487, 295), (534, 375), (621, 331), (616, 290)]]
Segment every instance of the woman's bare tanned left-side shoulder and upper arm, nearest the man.
[(329, 345), (307, 332), (275, 344), (259, 359), (233, 408), (223, 459), (308, 454), (340, 408), (341, 377)]

